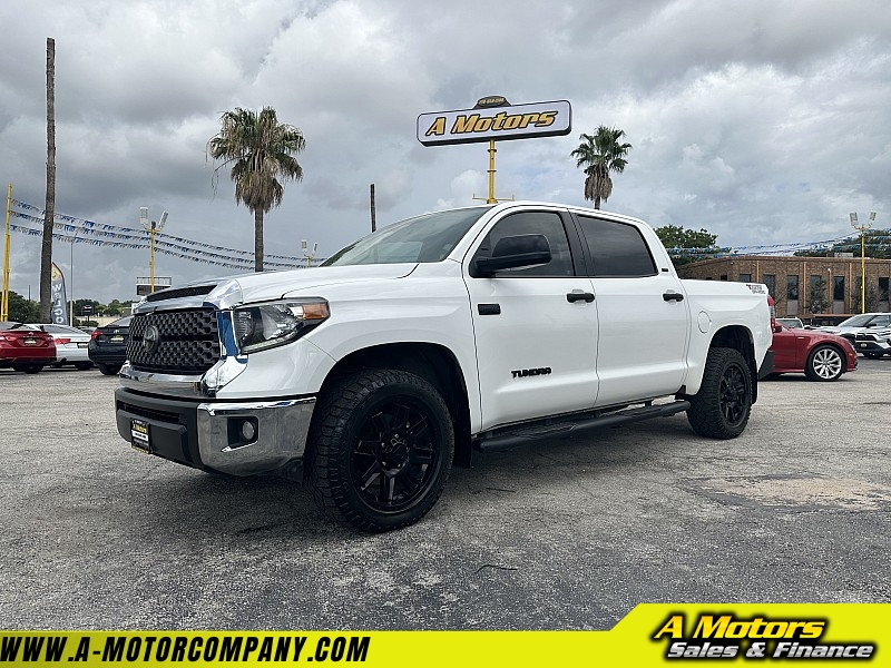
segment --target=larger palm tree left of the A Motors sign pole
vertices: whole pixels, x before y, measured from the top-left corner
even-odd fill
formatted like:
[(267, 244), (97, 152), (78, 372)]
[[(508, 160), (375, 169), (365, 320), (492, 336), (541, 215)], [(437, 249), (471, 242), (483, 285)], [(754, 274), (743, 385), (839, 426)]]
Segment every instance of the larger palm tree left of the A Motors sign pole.
[(223, 164), (215, 177), (232, 165), (235, 202), (254, 213), (254, 271), (263, 271), (263, 215), (282, 204), (284, 187), (281, 179), (301, 180), (303, 167), (294, 154), (306, 141), (294, 126), (280, 124), (275, 109), (264, 107), (257, 114), (241, 107), (226, 111), (219, 119), (219, 134), (207, 143), (207, 151)]

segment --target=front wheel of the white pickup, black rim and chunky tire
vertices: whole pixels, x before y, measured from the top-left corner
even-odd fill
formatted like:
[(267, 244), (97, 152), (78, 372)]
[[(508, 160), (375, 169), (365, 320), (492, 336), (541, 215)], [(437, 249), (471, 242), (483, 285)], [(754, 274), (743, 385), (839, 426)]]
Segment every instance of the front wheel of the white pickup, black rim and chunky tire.
[(316, 405), (306, 482), (325, 514), (389, 531), (433, 507), (453, 455), (454, 429), (435, 387), (404, 371), (362, 371)]

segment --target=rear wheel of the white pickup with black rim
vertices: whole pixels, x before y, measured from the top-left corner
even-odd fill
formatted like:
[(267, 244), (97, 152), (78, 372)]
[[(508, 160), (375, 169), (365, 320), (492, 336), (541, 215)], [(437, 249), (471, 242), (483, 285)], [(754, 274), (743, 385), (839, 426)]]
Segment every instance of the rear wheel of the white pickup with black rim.
[(687, 420), (701, 436), (735, 439), (743, 433), (752, 412), (752, 373), (740, 351), (708, 351), (703, 383), (689, 403)]

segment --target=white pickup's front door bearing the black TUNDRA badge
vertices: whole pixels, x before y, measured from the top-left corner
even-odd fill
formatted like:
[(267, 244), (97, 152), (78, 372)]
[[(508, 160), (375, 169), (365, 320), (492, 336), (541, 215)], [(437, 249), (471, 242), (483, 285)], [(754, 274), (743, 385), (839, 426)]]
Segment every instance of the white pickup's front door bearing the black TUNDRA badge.
[[(545, 235), (551, 261), (473, 277), (507, 236)], [(597, 400), (597, 310), (590, 279), (577, 275), (577, 232), (560, 209), (508, 212), (468, 254), (483, 429), (590, 407)], [(582, 272), (584, 273), (584, 272)]]

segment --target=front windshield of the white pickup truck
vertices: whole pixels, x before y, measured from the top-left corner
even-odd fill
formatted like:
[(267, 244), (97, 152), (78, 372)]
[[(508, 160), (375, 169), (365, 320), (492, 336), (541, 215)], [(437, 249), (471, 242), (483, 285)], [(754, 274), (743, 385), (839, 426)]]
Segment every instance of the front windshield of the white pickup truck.
[(393, 223), (350, 244), (321, 266), (442, 262), (489, 208), (452, 209)]

